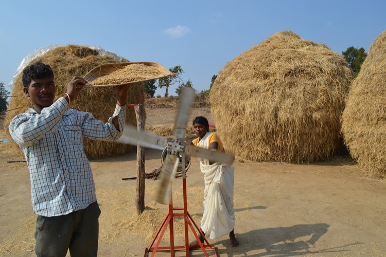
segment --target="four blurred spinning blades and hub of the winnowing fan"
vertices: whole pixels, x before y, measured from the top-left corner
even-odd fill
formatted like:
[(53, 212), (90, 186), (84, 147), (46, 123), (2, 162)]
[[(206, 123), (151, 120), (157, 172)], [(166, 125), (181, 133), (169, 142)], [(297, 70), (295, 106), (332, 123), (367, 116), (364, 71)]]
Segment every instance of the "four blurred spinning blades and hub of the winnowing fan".
[(179, 111), (174, 124), (173, 136), (171, 142), (167, 139), (148, 132), (138, 132), (135, 127), (126, 125), (122, 136), (118, 142), (142, 145), (147, 148), (163, 150), (167, 148), (167, 155), (161, 170), (160, 186), (157, 191), (156, 201), (161, 204), (169, 204), (169, 193), (171, 190), (172, 179), (176, 176), (179, 166), (179, 157), (181, 153), (189, 156), (196, 156), (210, 161), (232, 164), (235, 157), (222, 152), (213, 152), (208, 149), (197, 148), (193, 145), (185, 145), (183, 137), (186, 133), (186, 124), (190, 109), (194, 100), (194, 89), (185, 87), (182, 90)]

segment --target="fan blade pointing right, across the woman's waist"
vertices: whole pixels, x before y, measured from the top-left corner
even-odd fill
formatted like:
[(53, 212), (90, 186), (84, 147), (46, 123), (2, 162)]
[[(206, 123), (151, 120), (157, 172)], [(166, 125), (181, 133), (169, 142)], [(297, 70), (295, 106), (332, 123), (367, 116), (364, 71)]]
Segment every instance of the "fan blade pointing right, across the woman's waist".
[(208, 149), (199, 148), (194, 145), (185, 145), (185, 154), (196, 156), (210, 161), (232, 164), (235, 161), (235, 156), (224, 152), (210, 151)]

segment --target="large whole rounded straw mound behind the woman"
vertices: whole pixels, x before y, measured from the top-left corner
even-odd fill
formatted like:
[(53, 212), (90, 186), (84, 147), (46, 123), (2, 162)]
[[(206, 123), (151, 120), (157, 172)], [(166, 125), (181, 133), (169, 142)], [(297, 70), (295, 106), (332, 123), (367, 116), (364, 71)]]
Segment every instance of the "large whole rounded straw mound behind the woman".
[(284, 31), (241, 53), (210, 91), (227, 151), (256, 161), (325, 160), (341, 148), (353, 72), (327, 46)]

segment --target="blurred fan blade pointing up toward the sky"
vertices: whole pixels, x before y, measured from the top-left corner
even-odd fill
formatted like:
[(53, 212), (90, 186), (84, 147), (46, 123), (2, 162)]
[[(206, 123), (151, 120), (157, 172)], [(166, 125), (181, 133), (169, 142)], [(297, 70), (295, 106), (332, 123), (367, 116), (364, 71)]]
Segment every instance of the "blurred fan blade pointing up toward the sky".
[(177, 138), (183, 138), (186, 133), (186, 124), (189, 118), (190, 109), (195, 98), (195, 90), (190, 87), (183, 87), (180, 97), (179, 111), (174, 124), (173, 135)]

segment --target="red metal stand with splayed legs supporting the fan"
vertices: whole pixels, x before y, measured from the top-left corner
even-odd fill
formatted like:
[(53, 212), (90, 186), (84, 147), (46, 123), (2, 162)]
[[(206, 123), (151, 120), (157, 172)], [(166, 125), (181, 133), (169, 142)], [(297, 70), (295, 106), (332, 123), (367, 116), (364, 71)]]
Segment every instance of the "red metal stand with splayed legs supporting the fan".
[[(182, 167), (185, 167), (184, 155), (182, 156)], [(190, 250), (189, 250), (188, 227), (191, 229), (197, 242), (199, 243), (199, 247), (196, 247), (195, 249), (191, 249), (191, 250), (201, 249), (202, 252), (205, 254), (205, 256), (209, 256), (206, 249), (210, 248), (214, 252), (213, 256), (217, 256), (217, 247), (214, 247), (213, 244), (212, 245), (209, 244), (209, 242), (205, 238), (204, 234), (201, 232), (201, 229), (197, 226), (197, 224), (193, 221), (190, 214), (188, 213), (185, 171), (182, 174), (182, 185), (183, 185), (184, 207), (183, 208), (173, 208), (172, 192), (170, 192), (169, 212), (166, 214), (164, 221), (162, 222), (160, 228), (158, 229), (157, 233), (153, 237), (153, 240), (151, 241), (150, 246), (146, 248), (144, 256), (149, 256), (150, 252), (151, 252), (151, 256), (155, 256), (156, 251), (170, 251), (170, 256), (173, 257), (174, 253), (176, 251), (185, 251), (185, 256), (189, 257)], [(183, 211), (183, 212), (181, 212), (181, 211)], [(185, 225), (185, 245), (175, 246), (174, 245), (174, 231), (173, 231), (173, 217), (182, 217), (182, 216), (184, 217), (184, 225)], [(165, 233), (168, 225), (169, 225), (169, 231), (170, 231), (170, 246), (160, 246), (162, 237), (164, 236), (164, 233)], [(198, 233), (196, 232), (196, 229), (197, 229)], [(203, 243), (199, 239), (199, 234), (204, 239)], [(153, 247), (157, 238), (158, 238), (158, 240), (157, 240), (155, 246)]]

